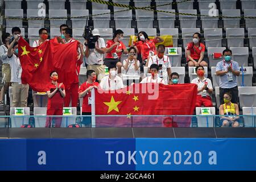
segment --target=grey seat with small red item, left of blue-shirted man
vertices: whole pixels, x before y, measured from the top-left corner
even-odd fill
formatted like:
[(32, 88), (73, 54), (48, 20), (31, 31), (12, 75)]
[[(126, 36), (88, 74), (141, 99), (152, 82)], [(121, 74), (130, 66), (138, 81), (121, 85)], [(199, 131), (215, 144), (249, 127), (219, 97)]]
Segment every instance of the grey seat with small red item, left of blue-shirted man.
[(225, 50), (225, 47), (208, 47), (207, 54), (208, 54), (208, 62), (209, 62), (209, 68), (216, 67), (217, 63), (221, 61), (223, 58), (221, 57), (214, 57), (214, 53), (220, 53), (222, 55), (222, 52)]

